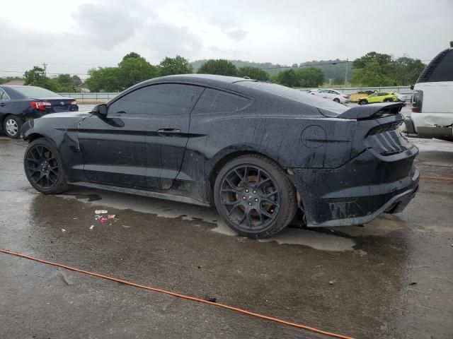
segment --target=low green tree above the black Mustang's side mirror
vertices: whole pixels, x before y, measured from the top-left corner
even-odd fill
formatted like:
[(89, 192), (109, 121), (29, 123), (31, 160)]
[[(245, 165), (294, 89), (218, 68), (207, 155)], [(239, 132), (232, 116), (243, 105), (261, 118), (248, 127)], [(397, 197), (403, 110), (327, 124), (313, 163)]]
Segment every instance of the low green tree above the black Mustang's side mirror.
[(99, 67), (88, 70), (86, 85), (91, 92), (117, 92), (122, 90), (118, 67)]

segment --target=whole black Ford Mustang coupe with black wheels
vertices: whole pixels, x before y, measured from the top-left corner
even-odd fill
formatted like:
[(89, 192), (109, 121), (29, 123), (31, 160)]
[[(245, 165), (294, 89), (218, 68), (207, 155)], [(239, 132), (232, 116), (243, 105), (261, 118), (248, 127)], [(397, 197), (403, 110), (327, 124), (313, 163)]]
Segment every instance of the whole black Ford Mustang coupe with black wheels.
[(401, 104), (349, 109), (272, 83), (208, 75), (134, 85), (93, 112), (28, 121), (30, 184), (215, 205), (248, 237), (370, 222), (418, 189)]

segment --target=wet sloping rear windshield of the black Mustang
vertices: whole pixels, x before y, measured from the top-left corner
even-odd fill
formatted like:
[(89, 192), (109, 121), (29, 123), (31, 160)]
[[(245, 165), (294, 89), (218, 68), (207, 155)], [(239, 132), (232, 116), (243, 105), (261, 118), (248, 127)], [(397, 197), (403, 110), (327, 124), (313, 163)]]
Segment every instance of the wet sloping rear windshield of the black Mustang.
[(280, 97), (286, 97), (287, 99), (302, 102), (306, 105), (326, 109), (336, 114), (341, 114), (349, 109), (349, 107), (337, 104), (334, 101), (326, 100), (322, 97), (304, 93), (300, 90), (294, 90), (293, 88), (286, 86), (277, 85), (275, 83), (241, 81), (236, 83), (236, 85), (243, 85), (249, 88), (254, 88), (256, 90), (262, 90), (263, 92), (279, 95)]

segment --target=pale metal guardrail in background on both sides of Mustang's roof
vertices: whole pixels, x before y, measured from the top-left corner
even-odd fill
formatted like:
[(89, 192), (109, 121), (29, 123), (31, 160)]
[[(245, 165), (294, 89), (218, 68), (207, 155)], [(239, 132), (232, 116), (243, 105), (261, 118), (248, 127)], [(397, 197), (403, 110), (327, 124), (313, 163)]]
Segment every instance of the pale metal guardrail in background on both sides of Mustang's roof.
[[(313, 90), (314, 88), (299, 88), (300, 90)], [(320, 88), (322, 89), (322, 88)], [(331, 87), (332, 90), (339, 90), (345, 94), (353, 94), (365, 90), (377, 90), (378, 92), (396, 92), (404, 95), (412, 95), (413, 90), (408, 86), (394, 86), (394, 87)], [(100, 93), (59, 93), (64, 97), (72, 97), (75, 100), (83, 103), (102, 103), (116, 97), (119, 92), (100, 92)]]

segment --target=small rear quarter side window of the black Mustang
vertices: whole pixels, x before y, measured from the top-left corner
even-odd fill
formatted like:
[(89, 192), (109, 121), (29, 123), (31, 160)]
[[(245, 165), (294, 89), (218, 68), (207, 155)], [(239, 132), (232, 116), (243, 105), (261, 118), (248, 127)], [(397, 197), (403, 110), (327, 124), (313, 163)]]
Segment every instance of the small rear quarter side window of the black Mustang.
[(209, 113), (238, 112), (250, 103), (246, 97), (206, 88), (198, 100), (195, 109)]

